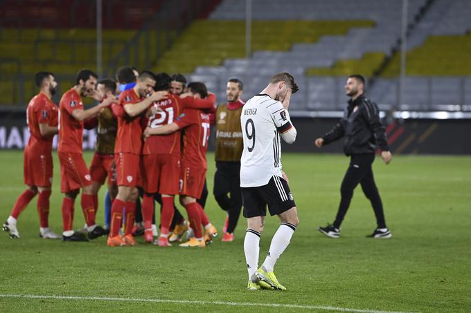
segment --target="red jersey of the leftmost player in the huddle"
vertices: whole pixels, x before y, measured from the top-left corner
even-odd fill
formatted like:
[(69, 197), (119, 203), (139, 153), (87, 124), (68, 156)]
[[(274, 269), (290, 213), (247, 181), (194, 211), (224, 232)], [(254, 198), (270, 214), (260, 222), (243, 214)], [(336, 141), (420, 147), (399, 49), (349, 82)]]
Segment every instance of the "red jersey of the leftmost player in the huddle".
[(53, 137), (42, 137), (39, 124), (57, 126), (57, 106), (44, 93), (33, 97), (26, 108), (26, 124), (30, 131), (30, 138), (26, 149), (38, 154), (51, 154)]

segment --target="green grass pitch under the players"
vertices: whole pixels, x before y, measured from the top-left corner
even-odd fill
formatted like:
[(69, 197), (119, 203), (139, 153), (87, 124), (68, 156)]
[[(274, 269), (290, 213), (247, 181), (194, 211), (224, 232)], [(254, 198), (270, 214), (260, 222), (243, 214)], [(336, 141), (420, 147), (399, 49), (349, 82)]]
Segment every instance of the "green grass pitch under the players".
[[(89, 162), (91, 153), (85, 159)], [(24, 190), (22, 162), (21, 151), (0, 152), (1, 222)], [(211, 196), (211, 153), (208, 164), (206, 210), (221, 229), (224, 212)], [(56, 155), (54, 165), (50, 225), (60, 232), (62, 195)], [(159, 249), (144, 244), (109, 248), (105, 238), (90, 243), (38, 238), (33, 200), (19, 217), (21, 238), (12, 240), (5, 232), (0, 234), (0, 311), (471, 311), (469, 156), (395, 156), (389, 166), (377, 158), (373, 167), (393, 233), (389, 240), (365, 238), (375, 228), (375, 220), (360, 187), (355, 190), (341, 238), (326, 238), (316, 230), (335, 216), (346, 157), (285, 154), (283, 165), (300, 219), (290, 246), (275, 267), (286, 292), (245, 289), (244, 218), (240, 218), (233, 243), (222, 243), (219, 237), (205, 249)], [(100, 205), (102, 200), (103, 190)], [(103, 206), (98, 221), (103, 223)], [(77, 201), (74, 226), (83, 224)], [(260, 264), (277, 227), (278, 218), (267, 218), (260, 240)], [(143, 243), (143, 238), (138, 241)], [(63, 296), (77, 298), (60, 298)], [(127, 300), (130, 298), (135, 300)]]

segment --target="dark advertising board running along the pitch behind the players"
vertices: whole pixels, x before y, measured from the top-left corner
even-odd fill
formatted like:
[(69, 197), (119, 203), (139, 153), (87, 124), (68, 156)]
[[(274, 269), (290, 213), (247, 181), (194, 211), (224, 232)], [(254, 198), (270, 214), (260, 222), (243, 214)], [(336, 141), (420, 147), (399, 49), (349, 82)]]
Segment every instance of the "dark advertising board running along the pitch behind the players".
[[(29, 132), (22, 111), (0, 111), (0, 149), (24, 149)], [(342, 113), (296, 112), (292, 122), (298, 135), (294, 144), (283, 144), (283, 152), (342, 153), (342, 140), (317, 149), (314, 139), (332, 129)], [(469, 116), (468, 116), (469, 115)], [(396, 112), (394, 116), (383, 114), (391, 151), (395, 154), (471, 154), (471, 113), (449, 112)], [(93, 150), (95, 130), (84, 130), (83, 149)], [(463, 138), (463, 140), (461, 140)], [(208, 149), (214, 149), (214, 130)], [(57, 146), (57, 136), (53, 147)]]

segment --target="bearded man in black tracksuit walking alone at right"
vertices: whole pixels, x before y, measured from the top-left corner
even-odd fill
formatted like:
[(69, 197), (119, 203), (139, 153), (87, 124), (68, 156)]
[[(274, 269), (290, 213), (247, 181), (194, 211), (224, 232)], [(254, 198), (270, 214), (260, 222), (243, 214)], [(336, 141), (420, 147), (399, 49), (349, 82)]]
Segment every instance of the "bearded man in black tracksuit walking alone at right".
[(361, 184), (363, 193), (371, 201), (375, 211), (377, 228), (368, 237), (391, 238), (391, 231), (386, 227), (384, 211), (378, 193), (371, 164), (375, 160), (375, 151), (380, 148), (381, 157), (386, 164), (391, 162), (384, 126), (381, 124), (379, 110), (374, 102), (364, 95), (365, 80), (362, 75), (351, 75), (345, 85), (346, 95), (351, 97), (345, 109), (344, 117), (335, 127), (317, 138), (314, 144), (321, 147), (345, 137), (344, 153), (350, 156), (344, 180), (341, 183), (341, 200), (333, 225), (319, 227), (319, 231), (330, 238), (339, 238), (340, 225), (353, 197), (353, 190)]

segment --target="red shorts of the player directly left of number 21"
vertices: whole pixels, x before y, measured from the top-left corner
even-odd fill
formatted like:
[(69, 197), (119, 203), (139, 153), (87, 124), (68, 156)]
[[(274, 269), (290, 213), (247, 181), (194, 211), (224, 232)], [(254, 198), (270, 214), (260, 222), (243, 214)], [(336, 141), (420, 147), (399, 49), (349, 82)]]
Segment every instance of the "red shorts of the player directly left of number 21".
[(133, 153), (116, 153), (116, 184), (118, 186), (141, 186), (141, 157)]

